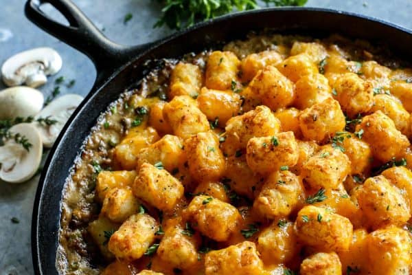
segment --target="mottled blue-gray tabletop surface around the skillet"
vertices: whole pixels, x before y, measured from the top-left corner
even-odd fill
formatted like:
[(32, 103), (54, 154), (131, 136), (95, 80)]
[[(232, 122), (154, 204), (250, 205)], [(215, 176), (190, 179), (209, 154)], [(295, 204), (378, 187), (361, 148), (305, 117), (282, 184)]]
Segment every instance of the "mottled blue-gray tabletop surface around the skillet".
[[(33, 47), (54, 47), (63, 59), (63, 67), (57, 76), (41, 87), (47, 97), (54, 87), (54, 79), (65, 76), (76, 79), (76, 85), (68, 89), (61, 87), (62, 94), (86, 95), (93, 85), (95, 69), (89, 59), (49, 34), (36, 28), (23, 14), (23, 0), (0, 0), (0, 63), (12, 54)], [(159, 16), (160, 5), (152, 0), (74, 0), (74, 2), (98, 25), (108, 38), (117, 43), (137, 45), (155, 41), (171, 34), (167, 28), (153, 29)], [(367, 14), (412, 29), (411, 0), (309, 0), (307, 6), (333, 8)], [(44, 10), (56, 14), (45, 5)], [(125, 14), (133, 14), (126, 25)], [(327, 23), (327, 22), (325, 22)], [(4, 86), (0, 83), (0, 89)], [(0, 275), (33, 274), (30, 248), (30, 225), (36, 187), (36, 176), (24, 184), (12, 185), (0, 182)], [(19, 223), (12, 223), (12, 217)]]

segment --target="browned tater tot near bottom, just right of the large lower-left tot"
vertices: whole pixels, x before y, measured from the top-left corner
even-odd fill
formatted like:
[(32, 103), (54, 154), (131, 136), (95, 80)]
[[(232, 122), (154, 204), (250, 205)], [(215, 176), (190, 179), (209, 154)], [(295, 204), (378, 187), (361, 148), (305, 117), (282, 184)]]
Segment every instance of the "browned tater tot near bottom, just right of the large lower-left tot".
[(170, 265), (179, 269), (188, 269), (198, 262), (200, 238), (184, 231), (181, 225), (165, 230), (157, 254)]

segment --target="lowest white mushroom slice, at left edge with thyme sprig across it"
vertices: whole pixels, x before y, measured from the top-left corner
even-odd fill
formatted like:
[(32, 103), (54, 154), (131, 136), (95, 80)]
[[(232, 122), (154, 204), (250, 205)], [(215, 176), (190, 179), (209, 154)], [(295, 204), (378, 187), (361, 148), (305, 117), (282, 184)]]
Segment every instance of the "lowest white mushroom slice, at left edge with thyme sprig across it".
[(16, 124), (10, 128), (10, 133), (19, 133), (32, 144), (28, 151), (14, 138), (5, 141), (0, 147), (0, 179), (12, 184), (19, 184), (33, 177), (41, 163), (43, 145), (41, 135), (36, 127), (29, 123)]

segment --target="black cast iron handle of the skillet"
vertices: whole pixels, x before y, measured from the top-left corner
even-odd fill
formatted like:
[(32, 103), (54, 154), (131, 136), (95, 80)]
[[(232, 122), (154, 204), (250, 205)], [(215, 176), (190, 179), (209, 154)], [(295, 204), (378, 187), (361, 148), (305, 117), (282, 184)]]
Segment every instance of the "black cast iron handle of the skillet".
[[(69, 25), (62, 25), (48, 17), (40, 9), (43, 3), (53, 5), (69, 21)], [(95, 87), (103, 84), (115, 69), (126, 64), (130, 58), (143, 52), (150, 45), (126, 47), (113, 43), (71, 0), (27, 0), (25, 14), (45, 32), (89, 56), (98, 71)]]

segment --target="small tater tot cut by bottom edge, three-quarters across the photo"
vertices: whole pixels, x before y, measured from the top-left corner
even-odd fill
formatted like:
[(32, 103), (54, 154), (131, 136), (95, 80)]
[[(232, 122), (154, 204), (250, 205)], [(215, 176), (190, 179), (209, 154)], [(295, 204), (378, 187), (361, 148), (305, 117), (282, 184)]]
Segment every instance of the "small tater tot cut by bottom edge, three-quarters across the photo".
[(304, 259), (301, 263), (301, 275), (341, 275), (342, 265), (335, 252), (319, 252)]

